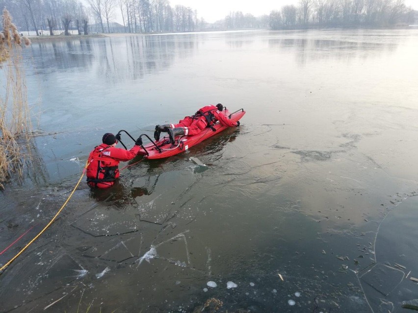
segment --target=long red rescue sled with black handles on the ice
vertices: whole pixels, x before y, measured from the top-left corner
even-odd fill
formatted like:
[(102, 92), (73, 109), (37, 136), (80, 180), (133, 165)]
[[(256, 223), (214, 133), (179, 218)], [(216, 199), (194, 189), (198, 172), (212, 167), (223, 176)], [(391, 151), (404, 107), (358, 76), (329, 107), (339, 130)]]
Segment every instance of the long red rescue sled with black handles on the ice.
[[(223, 113), (228, 116), (230, 120), (237, 121), (244, 116), (245, 111), (244, 109), (239, 109), (233, 113), (230, 113), (226, 108), (224, 108)], [(221, 131), (228, 128), (228, 126), (224, 126), (219, 121), (217, 121), (216, 124), (213, 125), (213, 128), (215, 129), (214, 131), (208, 127), (194, 136), (176, 136), (175, 144), (170, 143), (168, 135), (164, 136), (159, 141), (154, 142), (150, 137), (148, 137), (148, 135), (142, 134), (141, 138), (142, 136), (147, 137), (150, 140), (150, 143), (142, 145), (138, 154), (142, 154), (145, 159), (150, 160), (168, 158), (172, 155), (184, 152), (192, 146), (201, 143), (205, 139), (220, 133)]]

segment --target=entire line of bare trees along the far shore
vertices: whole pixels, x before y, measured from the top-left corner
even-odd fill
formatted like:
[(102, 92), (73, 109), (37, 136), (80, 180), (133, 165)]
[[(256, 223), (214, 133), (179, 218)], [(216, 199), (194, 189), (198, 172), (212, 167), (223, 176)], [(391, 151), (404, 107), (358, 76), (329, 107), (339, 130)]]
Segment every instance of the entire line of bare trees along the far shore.
[[(183, 5), (170, 6), (168, 0), (0, 0), (13, 16), (18, 29), (36, 35), (69, 29), (89, 32), (185, 32), (208, 28), (197, 11)], [(123, 26), (115, 29), (116, 12)], [(231, 12), (212, 25), (216, 29), (388, 26), (414, 21), (414, 11), (405, 0), (299, 0), (269, 15), (255, 17)]]

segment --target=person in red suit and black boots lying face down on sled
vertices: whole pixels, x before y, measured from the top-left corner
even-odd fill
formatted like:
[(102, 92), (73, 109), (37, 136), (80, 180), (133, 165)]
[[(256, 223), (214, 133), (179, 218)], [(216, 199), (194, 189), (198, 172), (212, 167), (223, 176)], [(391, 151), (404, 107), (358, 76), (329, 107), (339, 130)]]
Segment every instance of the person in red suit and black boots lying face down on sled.
[(218, 120), (224, 126), (239, 126), (239, 121), (232, 121), (222, 113), (223, 108), (221, 103), (218, 103), (216, 106), (207, 105), (200, 108), (195, 115), (186, 116), (183, 120), (180, 120), (178, 124), (157, 125), (156, 131), (154, 132), (154, 139), (158, 141), (159, 135), (163, 131), (168, 133), (171, 143), (174, 144), (174, 138), (177, 135), (197, 135), (206, 127), (212, 128), (212, 125)]

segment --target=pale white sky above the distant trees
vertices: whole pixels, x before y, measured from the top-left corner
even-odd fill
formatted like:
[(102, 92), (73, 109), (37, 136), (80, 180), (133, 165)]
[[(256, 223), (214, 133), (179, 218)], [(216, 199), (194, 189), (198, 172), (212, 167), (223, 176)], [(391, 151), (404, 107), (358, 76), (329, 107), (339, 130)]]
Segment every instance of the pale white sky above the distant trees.
[[(206, 22), (213, 23), (225, 18), (230, 11), (242, 11), (244, 14), (260, 16), (287, 4), (297, 4), (299, 0), (169, 0), (169, 2), (172, 7), (181, 4), (196, 9), (198, 18), (203, 17)], [(405, 0), (405, 4), (418, 10), (418, 0)]]

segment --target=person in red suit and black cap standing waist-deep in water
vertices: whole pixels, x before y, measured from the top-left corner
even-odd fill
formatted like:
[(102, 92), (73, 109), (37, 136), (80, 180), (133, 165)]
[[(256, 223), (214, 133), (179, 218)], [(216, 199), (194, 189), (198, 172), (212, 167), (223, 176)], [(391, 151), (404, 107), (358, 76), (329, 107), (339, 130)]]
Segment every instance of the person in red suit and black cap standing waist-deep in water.
[(109, 188), (119, 177), (118, 165), (121, 161), (132, 160), (142, 144), (139, 137), (131, 150), (116, 148), (118, 143), (113, 134), (105, 133), (100, 144), (90, 152), (87, 165), (87, 184), (90, 187)]

